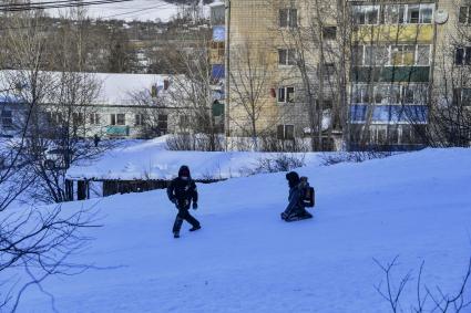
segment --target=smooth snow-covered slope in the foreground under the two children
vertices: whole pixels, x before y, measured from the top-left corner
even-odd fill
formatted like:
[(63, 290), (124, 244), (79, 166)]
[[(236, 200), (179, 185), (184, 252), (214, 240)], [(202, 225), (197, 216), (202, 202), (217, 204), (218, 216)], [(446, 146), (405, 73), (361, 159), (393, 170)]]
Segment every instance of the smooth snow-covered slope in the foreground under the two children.
[[(59, 312), (389, 312), (373, 258), (399, 254), (397, 281), (454, 292), (471, 254), (471, 150), (427, 149), (362, 164), (309, 166), (315, 218), (285, 223), (285, 174), (199, 186), (203, 229), (173, 239), (164, 190), (64, 206), (98, 207), (103, 228), (74, 261), (114, 270), (53, 278)], [(467, 290), (471, 300), (471, 290)], [(31, 290), (19, 312), (50, 312)], [(467, 312), (467, 311), (464, 311)], [(469, 312), (469, 311), (468, 311)]]

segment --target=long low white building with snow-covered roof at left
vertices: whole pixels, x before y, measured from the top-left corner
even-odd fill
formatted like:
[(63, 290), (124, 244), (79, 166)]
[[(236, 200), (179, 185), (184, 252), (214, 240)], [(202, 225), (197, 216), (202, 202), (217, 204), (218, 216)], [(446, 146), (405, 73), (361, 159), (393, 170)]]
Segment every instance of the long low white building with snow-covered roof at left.
[[(0, 131), (2, 136), (14, 136), (34, 98), (33, 83), (28, 71), (1, 71), (0, 76)], [(40, 72), (39, 77), (41, 127), (58, 127), (71, 115), (70, 124), (82, 126), (81, 137), (149, 138), (190, 132), (187, 121), (193, 109), (177, 101), (172, 86), (183, 80), (180, 76)], [(22, 88), (11, 87), (20, 81)], [(71, 95), (64, 92), (65, 84), (80, 87)]]

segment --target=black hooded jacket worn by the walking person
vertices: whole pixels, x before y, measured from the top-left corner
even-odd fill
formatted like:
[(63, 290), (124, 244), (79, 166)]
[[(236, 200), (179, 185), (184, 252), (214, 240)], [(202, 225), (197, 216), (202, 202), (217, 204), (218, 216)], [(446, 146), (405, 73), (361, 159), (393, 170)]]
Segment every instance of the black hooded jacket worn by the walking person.
[[(187, 209), (192, 201), (195, 204), (198, 201), (198, 191), (195, 181), (190, 176), (187, 179), (182, 178), (182, 168), (178, 171), (178, 177), (168, 185), (167, 196), (171, 201), (175, 201), (178, 208)], [(187, 167), (186, 170), (188, 170)]]

